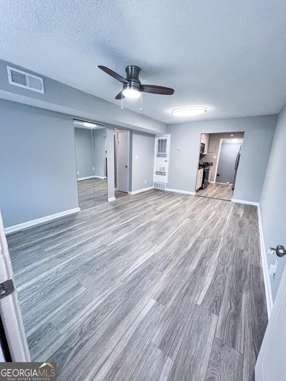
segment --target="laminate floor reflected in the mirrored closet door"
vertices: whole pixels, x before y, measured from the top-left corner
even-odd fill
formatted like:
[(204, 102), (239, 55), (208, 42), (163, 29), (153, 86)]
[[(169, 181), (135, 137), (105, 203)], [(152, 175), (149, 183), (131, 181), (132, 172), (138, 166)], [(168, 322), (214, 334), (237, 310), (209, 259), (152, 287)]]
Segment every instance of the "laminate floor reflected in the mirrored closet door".
[(80, 209), (107, 201), (107, 179), (85, 179), (77, 181)]

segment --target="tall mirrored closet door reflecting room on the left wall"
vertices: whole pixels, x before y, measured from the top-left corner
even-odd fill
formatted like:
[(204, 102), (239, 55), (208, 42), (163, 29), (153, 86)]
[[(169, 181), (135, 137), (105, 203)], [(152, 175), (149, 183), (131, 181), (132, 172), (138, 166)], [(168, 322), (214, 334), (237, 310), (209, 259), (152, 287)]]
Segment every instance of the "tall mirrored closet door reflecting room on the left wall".
[(106, 127), (73, 121), (80, 209), (107, 201)]

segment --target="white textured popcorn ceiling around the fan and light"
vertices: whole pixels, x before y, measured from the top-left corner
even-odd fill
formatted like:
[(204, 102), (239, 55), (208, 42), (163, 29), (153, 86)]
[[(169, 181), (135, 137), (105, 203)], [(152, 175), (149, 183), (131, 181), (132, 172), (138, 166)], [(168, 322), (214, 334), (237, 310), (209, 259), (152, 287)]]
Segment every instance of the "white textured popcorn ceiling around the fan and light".
[[(143, 114), (165, 123), (263, 115), (286, 103), (285, 0), (0, 0), (0, 59), (120, 104), (120, 82), (142, 67)], [(207, 106), (199, 117), (171, 110)], [(140, 112), (139, 100), (124, 107)]]

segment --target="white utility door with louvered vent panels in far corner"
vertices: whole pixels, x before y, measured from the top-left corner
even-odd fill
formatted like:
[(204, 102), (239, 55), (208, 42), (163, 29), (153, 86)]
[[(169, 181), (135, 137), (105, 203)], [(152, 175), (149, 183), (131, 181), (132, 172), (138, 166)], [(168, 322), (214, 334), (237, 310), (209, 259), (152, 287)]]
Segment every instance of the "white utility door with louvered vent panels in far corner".
[(154, 181), (167, 184), (170, 153), (170, 135), (156, 136)]

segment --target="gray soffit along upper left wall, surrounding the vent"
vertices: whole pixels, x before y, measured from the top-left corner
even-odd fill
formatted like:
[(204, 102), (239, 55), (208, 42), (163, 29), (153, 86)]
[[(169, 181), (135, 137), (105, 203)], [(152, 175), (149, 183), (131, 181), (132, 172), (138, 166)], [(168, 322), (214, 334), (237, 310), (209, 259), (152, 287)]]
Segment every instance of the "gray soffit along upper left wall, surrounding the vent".
[[(8, 82), (6, 65), (39, 75), (44, 79), (45, 94), (31, 91)], [(99, 70), (96, 67), (95, 70)], [(102, 75), (106, 75), (102, 73)], [(25, 103), (43, 109), (75, 115), (79, 119), (90, 119), (94, 122), (134, 128), (152, 133), (165, 133), (167, 125), (140, 113), (126, 108), (121, 110), (120, 103), (114, 104), (94, 95), (67, 86), (64, 83), (45, 77), (41, 73), (0, 60), (0, 98)]]

